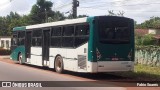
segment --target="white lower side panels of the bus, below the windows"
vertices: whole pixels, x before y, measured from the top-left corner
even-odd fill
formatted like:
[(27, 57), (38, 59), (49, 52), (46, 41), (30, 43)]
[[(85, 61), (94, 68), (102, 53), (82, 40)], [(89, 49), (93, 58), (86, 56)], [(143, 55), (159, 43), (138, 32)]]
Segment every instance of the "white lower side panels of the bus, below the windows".
[[(87, 51), (85, 51), (87, 50)], [(65, 70), (76, 71), (76, 72), (93, 72), (93, 66), (91, 62), (87, 60), (88, 58), (88, 43), (76, 48), (76, 49), (65, 49), (65, 48), (50, 48), (49, 49), (49, 61), (47, 66), (49, 68), (54, 68), (54, 62), (57, 55), (61, 55), (63, 57), (63, 64)], [(78, 67), (78, 55), (86, 56), (86, 68), (80, 69)], [(41, 47), (31, 47), (31, 58), (27, 59), (28, 64), (43, 66), (42, 65), (42, 48)], [(88, 66), (88, 68), (87, 68)], [(96, 70), (97, 71), (97, 70)]]

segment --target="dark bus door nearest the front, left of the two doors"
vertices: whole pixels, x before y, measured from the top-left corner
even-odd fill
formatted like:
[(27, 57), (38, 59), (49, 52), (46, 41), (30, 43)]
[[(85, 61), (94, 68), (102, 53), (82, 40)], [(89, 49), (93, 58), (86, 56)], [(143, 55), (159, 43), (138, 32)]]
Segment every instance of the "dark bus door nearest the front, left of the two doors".
[(31, 58), (31, 39), (32, 39), (32, 32), (27, 31), (25, 37), (26, 58)]

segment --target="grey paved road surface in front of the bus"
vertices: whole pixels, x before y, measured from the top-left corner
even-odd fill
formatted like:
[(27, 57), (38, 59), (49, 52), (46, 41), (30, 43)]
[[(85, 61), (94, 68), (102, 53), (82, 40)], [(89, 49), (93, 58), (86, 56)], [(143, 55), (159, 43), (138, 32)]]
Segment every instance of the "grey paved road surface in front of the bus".
[[(0, 81), (94, 81), (26, 65), (0, 61)], [(95, 84), (95, 83), (94, 83)], [(96, 84), (95, 84), (96, 85)], [(63, 85), (60, 85), (63, 86)], [(64, 85), (65, 86), (65, 85)], [(114, 85), (113, 85), (114, 86)], [(0, 90), (126, 90), (122, 87), (0, 88)]]

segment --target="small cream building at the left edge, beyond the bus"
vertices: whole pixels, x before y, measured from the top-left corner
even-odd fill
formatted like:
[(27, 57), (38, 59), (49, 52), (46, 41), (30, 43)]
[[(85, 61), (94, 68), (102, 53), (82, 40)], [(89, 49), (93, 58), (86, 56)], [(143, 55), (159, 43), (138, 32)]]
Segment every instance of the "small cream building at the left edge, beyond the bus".
[(0, 48), (10, 49), (11, 47), (11, 37), (10, 36), (0, 36)]

